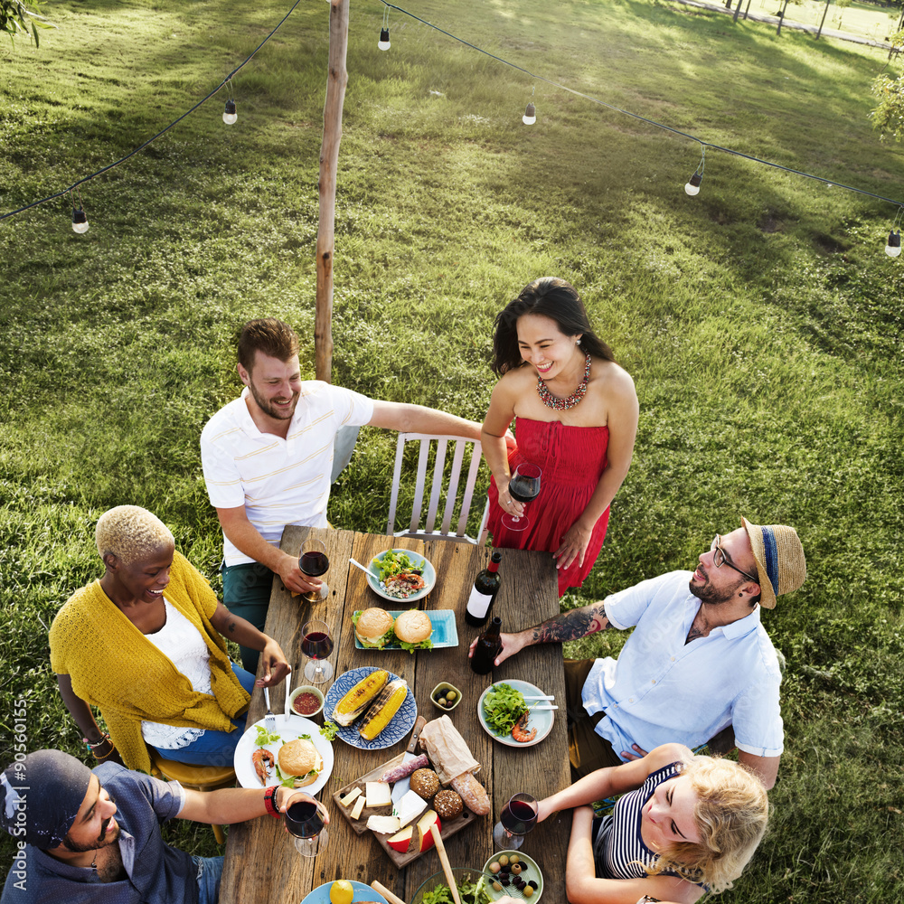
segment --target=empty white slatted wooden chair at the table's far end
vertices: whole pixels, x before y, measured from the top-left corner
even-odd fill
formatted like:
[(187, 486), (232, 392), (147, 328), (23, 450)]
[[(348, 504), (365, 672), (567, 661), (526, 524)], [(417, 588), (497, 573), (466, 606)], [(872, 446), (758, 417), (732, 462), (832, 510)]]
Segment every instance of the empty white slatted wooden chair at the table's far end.
[[(418, 473), (414, 489), (414, 503), (411, 506), (411, 521), (408, 530), (395, 530), (396, 507), (399, 502), (402, 460), (405, 457), (405, 444), (419, 442)], [(436, 444), (436, 457), (433, 463), (433, 478), (429, 487), (427, 520), (420, 526), (421, 513), (424, 507), (424, 494), (427, 489), (427, 467), (430, 450)], [(449, 449), (449, 444), (453, 447)], [(445, 483), (447, 450), (451, 452), (451, 472), (448, 484)], [(466, 460), (466, 452), (470, 452), (467, 474), (462, 485), (462, 470)], [(430, 436), (425, 433), (400, 433), (396, 444), (395, 468), (392, 472), (392, 494), (390, 497), (390, 517), (386, 532), (396, 537), (418, 537), (420, 540), (452, 540), (457, 542), (483, 544), (486, 541), (486, 519), (490, 513), (489, 501), (484, 507), (484, 514), (476, 538), (466, 533), (467, 518), (474, 500), (474, 488), (477, 470), (482, 455), (480, 443), (474, 439), (461, 437)], [(481, 494), (482, 495), (482, 494)], [(437, 515), (440, 505), (443, 506), (442, 522), (437, 527)], [(453, 523), (456, 511), (457, 523)]]

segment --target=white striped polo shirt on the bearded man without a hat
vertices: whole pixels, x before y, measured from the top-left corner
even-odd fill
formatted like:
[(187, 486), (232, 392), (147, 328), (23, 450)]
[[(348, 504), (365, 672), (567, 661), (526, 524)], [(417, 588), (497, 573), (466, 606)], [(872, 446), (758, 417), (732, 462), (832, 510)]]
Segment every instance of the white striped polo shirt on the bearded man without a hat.
[[(248, 392), (217, 411), (202, 431), (204, 481), (215, 508), (244, 505), (264, 540), (278, 546), (287, 524), (326, 527), (336, 431), (368, 423), (373, 402), (323, 381), (304, 381), (283, 439), (259, 431), (245, 403)], [(225, 534), (223, 558), (227, 565), (254, 561)]]

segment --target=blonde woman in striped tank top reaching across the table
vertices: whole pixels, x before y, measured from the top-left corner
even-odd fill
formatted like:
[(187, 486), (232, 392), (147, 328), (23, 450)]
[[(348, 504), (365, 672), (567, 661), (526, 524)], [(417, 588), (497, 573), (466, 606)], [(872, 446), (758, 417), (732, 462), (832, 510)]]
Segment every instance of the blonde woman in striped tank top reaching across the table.
[[(594, 819), (593, 801), (621, 795)], [(664, 744), (623, 766), (598, 769), (540, 801), (542, 821), (574, 807), (565, 885), (571, 904), (692, 904), (730, 889), (766, 832), (759, 779), (739, 763)]]

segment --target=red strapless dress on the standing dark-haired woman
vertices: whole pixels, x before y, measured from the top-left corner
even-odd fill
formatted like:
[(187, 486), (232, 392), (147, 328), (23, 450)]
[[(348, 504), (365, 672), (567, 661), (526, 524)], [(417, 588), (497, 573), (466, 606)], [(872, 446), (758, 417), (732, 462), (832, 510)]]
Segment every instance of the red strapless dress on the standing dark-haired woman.
[[(512, 472), (520, 462), (529, 461), (542, 469), (540, 495), (527, 504), (531, 526), (526, 531), (509, 531), (502, 523), (499, 492), (490, 480), (490, 518), (493, 545), (510, 550), (555, 552), (562, 537), (575, 523), (597, 488), (607, 466), (607, 427), (568, 427), (559, 421), (515, 420), (518, 442), (509, 454)], [(602, 513), (590, 535), (584, 564), (574, 560), (567, 569), (559, 570), (559, 596), (570, 587), (580, 587), (597, 560), (606, 529), (609, 510)]]

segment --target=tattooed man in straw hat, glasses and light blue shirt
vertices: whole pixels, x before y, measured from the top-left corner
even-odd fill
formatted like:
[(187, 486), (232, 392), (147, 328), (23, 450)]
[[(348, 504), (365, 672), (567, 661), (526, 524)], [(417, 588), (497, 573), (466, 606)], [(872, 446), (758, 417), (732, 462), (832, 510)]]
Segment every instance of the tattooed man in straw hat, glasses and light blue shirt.
[(693, 572), (641, 581), (502, 635), (497, 665), (525, 646), (634, 627), (617, 660), (565, 662), (574, 779), (660, 744), (696, 748), (733, 731), (740, 762), (767, 788), (775, 784), (784, 738), (781, 670), (760, 612), (804, 583), (806, 561), (793, 527), (741, 524), (716, 534)]

